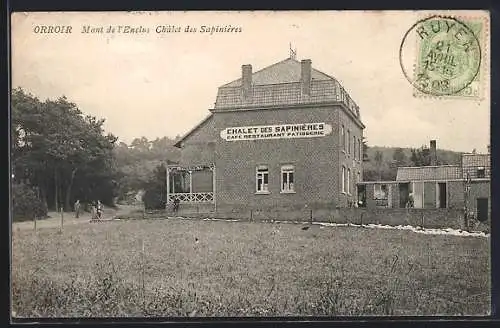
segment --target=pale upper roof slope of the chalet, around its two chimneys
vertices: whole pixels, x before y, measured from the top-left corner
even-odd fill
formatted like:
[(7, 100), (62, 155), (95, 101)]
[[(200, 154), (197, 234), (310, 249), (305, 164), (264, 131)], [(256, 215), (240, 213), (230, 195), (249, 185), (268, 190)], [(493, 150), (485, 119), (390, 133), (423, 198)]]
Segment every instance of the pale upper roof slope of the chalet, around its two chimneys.
[[(254, 85), (280, 84), (300, 81), (301, 63), (293, 58), (287, 58), (271, 66), (267, 66), (252, 74), (252, 83)], [(314, 68), (311, 71), (313, 80), (335, 80), (333, 77), (320, 72)], [(225, 87), (241, 86), (241, 78), (224, 84)]]

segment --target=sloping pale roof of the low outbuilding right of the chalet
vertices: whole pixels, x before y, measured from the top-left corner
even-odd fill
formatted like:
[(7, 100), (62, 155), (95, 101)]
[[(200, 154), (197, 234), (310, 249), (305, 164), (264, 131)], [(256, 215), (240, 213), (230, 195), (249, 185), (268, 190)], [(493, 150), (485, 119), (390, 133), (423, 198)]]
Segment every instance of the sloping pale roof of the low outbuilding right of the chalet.
[(459, 165), (398, 167), (396, 181), (453, 180), (462, 178)]

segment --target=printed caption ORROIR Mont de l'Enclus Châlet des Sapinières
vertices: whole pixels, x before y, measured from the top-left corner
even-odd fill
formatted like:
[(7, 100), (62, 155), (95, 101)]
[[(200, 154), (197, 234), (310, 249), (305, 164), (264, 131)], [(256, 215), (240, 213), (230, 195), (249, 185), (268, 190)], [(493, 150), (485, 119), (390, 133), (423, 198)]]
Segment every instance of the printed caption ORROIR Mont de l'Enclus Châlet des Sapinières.
[(233, 25), (157, 25), (154, 28), (144, 26), (131, 25), (107, 25), (107, 26), (92, 26), (83, 25), (77, 31), (71, 25), (36, 25), (33, 32), (37, 34), (63, 34), (63, 33), (83, 33), (83, 34), (105, 34), (105, 33), (120, 33), (120, 34), (148, 34), (151, 32), (164, 33), (203, 33), (203, 34), (220, 34), (220, 33), (241, 33), (241, 26)]

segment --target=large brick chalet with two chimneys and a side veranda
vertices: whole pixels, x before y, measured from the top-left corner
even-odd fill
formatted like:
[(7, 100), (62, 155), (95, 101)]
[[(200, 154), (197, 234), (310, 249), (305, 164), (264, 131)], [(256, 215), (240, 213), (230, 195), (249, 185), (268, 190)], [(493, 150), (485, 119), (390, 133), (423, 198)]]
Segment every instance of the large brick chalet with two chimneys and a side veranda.
[(218, 89), (176, 144), (168, 203), (221, 208), (346, 207), (363, 179), (359, 107), (311, 60), (288, 58)]

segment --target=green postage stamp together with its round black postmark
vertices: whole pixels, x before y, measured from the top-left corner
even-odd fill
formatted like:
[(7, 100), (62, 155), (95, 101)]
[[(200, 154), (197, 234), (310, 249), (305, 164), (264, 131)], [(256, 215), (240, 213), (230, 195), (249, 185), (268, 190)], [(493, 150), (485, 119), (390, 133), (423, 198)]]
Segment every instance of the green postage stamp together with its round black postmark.
[[(416, 97), (483, 97), (488, 21), (483, 17), (432, 15), (405, 34), (404, 48), (414, 41), (413, 67), (401, 66)], [(410, 41), (411, 39), (414, 39)]]

